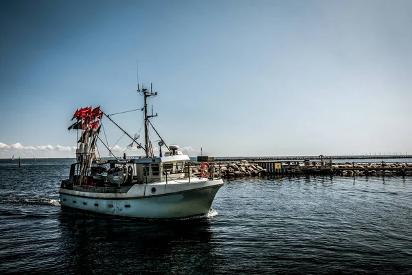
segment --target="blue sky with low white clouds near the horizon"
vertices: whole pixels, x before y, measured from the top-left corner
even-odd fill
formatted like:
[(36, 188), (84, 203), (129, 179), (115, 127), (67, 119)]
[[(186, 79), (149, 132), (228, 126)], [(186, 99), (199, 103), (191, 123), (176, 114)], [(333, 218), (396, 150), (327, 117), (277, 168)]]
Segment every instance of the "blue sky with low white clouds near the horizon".
[[(410, 154), (411, 10), (409, 0), (1, 0), (0, 158), (75, 157), (76, 109), (143, 107), (137, 67), (158, 92), (152, 124), (190, 156)], [(141, 111), (111, 118), (144, 142)], [(116, 155), (144, 155), (102, 123)]]

